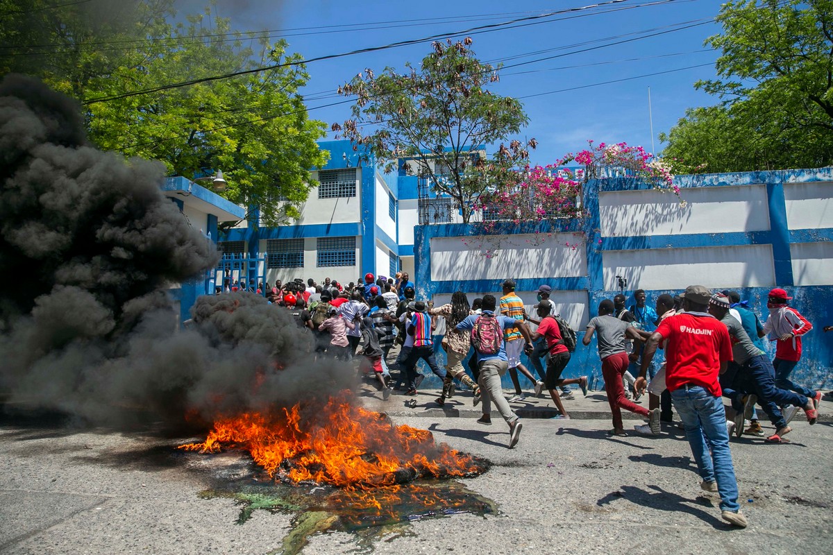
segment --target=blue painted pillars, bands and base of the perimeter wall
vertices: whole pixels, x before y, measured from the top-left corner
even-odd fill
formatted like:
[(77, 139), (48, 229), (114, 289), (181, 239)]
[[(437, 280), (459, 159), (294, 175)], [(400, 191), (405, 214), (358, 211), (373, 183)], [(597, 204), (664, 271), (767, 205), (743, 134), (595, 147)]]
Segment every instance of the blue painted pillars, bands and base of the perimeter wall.
[[(748, 233), (719, 233), (692, 235), (654, 235), (654, 236), (617, 236), (601, 237), (599, 221), (599, 192), (600, 191), (630, 191), (649, 189), (650, 185), (632, 178), (611, 178), (591, 180), (585, 186), (584, 203), (589, 217), (581, 224), (563, 222), (557, 225), (504, 225), (499, 226), (495, 233), (500, 235), (514, 235), (534, 233), (537, 231), (580, 231), (586, 237), (587, 275), (584, 277), (559, 277), (521, 279), (518, 280), (518, 290), (536, 290), (538, 285), (546, 283), (553, 288), (562, 290), (587, 290), (591, 305), (591, 317), (596, 315), (601, 300), (611, 299), (619, 290), (604, 290), (602, 277), (602, 254), (613, 250), (640, 250), (660, 248), (686, 248), (701, 246), (736, 246), (736, 245), (772, 245), (775, 260), (775, 275), (777, 286), (782, 287), (795, 297), (791, 304), (811, 321), (814, 330), (803, 341), (804, 354), (801, 362), (793, 373), (796, 382), (808, 387), (833, 389), (833, 332), (825, 334), (822, 328), (833, 325), (833, 286), (794, 286), (792, 275), (792, 260), (790, 254), (791, 243), (818, 242), (833, 240), (833, 228), (816, 230), (790, 230), (787, 225), (786, 205), (784, 200), (783, 183), (833, 181), (833, 171), (823, 170), (789, 170), (789, 171), (755, 171), (727, 174), (711, 174), (706, 176), (676, 176), (675, 184), (683, 189), (699, 186), (740, 186), (766, 184), (767, 204), (770, 211), (771, 229), (766, 231), (752, 231)], [(402, 181), (400, 181), (402, 186)], [(450, 237), (479, 235), (482, 230), (474, 225), (445, 224), (421, 225), (415, 231), (415, 261), (417, 298), (430, 299), (435, 294), (449, 294), (455, 290), (466, 293), (500, 290), (501, 280), (465, 280), (465, 269), (460, 269), (461, 280), (436, 281), (431, 280), (430, 244), (433, 237)], [(517, 276), (506, 276), (517, 279)], [(658, 295), (669, 293), (676, 295), (686, 288), (687, 283), (681, 283), (679, 290), (646, 290), (648, 302), (652, 304)], [(709, 286), (708, 283), (701, 285)], [(741, 298), (750, 300), (750, 305), (761, 318), (766, 320), (766, 295), (770, 287), (735, 288)], [(632, 291), (626, 290), (627, 305), (633, 304)], [(471, 295), (470, 295), (471, 297)], [(565, 377), (574, 378), (589, 375), (591, 384), (601, 387), (601, 361), (596, 350), (595, 338), (587, 347), (581, 345), (584, 330), (576, 330), (580, 344), (573, 353), (567, 366)], [(765, 342), (766, 343), (766, 342)], [(771, 346), (774, 353), (774, 345)], [(445, 359), (439, 350), (438, 357)], [(531, 371), (531, 365), (524, 357), (524, 364)], [(430, 374), (423, 372), (425, 374)], [(526, 383), (525, 383), (526, 382)], [(426, 384), (439, 387), (439, 380), (432, 374), (426, 377)], [(505, 388), (511, 388), (508, 374), (503, 379)], [(528, 380), (521, 377), (521, 387), (530, 389)]]

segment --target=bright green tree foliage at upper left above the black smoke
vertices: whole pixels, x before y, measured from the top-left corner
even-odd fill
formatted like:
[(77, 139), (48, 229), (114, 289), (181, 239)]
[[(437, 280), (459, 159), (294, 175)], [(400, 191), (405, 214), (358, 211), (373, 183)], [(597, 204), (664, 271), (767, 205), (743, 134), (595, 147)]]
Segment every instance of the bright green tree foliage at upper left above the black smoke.
[[(172, 0), (95, 0), (92, 7), (122, 5), (118, 17), (101, 18), (91, 17), (88, 4), (56, 10), (38, 9), (47, 5), (42, 0), (0, 2), (16, 5), (27, 21), (21, 32), (4, 35), (19, 56), (7, 57), (3, 69), (34, 74), (81, 101), (98, 147), (162, 161), (169, 175), (222, 169), (228, 181), (222, 195), (258, 206), (266, 225), (299, 216), (297, 206), (317, 185), (309, 170), (327, 162), (316, 142), (325, 124), (307, 117), (298, 94), (309, 78), (302, 64), (117, 97), (299, 62), (300, 55), (287, 54), (286, 42), (233, 32), (227, 19), (211, 17), (208, 8), (173, 25)], [(23, 58), (34, 63), (22, 67)], [(116, 98), (99, 100), (107, 97)]]

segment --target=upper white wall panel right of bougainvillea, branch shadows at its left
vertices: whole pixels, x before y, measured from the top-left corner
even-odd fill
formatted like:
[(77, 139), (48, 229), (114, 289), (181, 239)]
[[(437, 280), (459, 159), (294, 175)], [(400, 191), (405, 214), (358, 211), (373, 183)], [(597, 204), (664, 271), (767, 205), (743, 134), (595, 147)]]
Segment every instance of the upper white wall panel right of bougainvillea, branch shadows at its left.
[(606, 237), (730, 233), (769, 230), (766, 186), (683, 189), (687, 206), (672, 193), (610, 191), (599, 194), (601, 234)]

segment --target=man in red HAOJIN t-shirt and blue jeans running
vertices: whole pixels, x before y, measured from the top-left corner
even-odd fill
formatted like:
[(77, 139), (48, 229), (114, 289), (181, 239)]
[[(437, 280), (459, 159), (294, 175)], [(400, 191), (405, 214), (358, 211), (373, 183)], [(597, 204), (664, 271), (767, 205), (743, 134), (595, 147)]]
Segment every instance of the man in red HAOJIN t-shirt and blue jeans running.
[[(666, 386), (680, 414), (702, 483), (707, 492), (721, 496), (721, 517), (746, 528), (746, 517), (737, 503), (737, 479), (729, 450), (726, 412), (721, 400), (718, 375), (732, 359), (729, 330), (708, 314), (711, 293), (702, 285), (690, 285), (683, 295), (681, 315), (662, 320), (642, 354), (640, 376), (644, 377), (656, 353), (666, 343)], [(706, 446), (705, 437), (711, 444)]]

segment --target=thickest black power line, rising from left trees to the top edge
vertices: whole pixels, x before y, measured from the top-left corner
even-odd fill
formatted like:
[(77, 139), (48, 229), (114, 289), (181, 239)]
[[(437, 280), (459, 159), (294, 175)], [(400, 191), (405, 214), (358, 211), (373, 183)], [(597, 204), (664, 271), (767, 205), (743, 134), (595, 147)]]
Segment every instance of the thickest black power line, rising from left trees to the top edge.
[[(380, 51), (380, 50), (387, 50), (388, 48), (403, 47), (403, 46), (409, 46), (409, 45), (412, 45), (412, 44), (419, 44), (421, 42), (429, 42), (429, 41), (435, 40), (436, 38), (454, 37), (456, 35), (461, 35), (461, 34), (476, 34), (476, 33), (479, 33), (479, 32), (490, 32), (490, 31), (494, 31), (498, 28), (523, 27), (523, 26), (526, 26), (526, 25), (534, 24), (534, 22), (536, 22), (536, 20), (540, 20), (540, 19), (546, 18), (546, 17), (552, 17), (553, 15), (558, 15), (558, 14), (561, 14), (561, 13), (568, 13), (568, 12), (578, 12), (578, 11), (591, 9), (593, 7), (600, 7), (600, 6), (617, 4), (617, 3), (621, 3), (621, 2), (627, 2), (627, 1), (628, 0), (608, 0), (607, 2), (600, 2), (600, 3), (597, 3), (597, 4), (591, 4), (589, 6), (572, 7), (572, 8), (567, 8), (565, 10), (558, 10), (556, 12), (547, 12), (547, 13), (539, 14), (539, 15), (536, 15), (536, 16), (520, 17), (520, 18), (517, 18), (517, 19), (513, 19), (511, 21), (508, 21), (508, 22), (490, 23), (488, 25), (481, 25), (481, 26), (478, 26), (478, 27), (471, 27), (469, 29), (465, 29), (465, 30), (462, 30), (462, 31), (459, 31), (459, 32), (440, 33), (440, 34), (436, 34), (436, 35), (431, 35), (429, 37), (410, 39), (410, 40), (400, 41), (400, 42), (392, 42), (390, 44), (383, 45), (383, 46), (378, 46), (378, 47), (360, 48), (358, 50), (353, 50), (351, 52), (342, 52), (342, 53), (339, 53), (339, 54), (329, 54), (329, 55), (326, 55), (326, 56), (308, 58), (307, 60), (302, 60), (302, 61), (299, 61), (299, 62), (284, 62), (284, 63), (275, 64), (275, 65), (267, 66), (267, 67), (256, 67), (256, 68), (252, 68), (252, 69), (248, 69), (248, 70), (243, 70), (243, 71), (240, 71), (240, 72), (231, 72), (231, 73), (226, 73), (226, 74), (212, 76), (212, 77), (202, 77), (201, 79), (192, 79), (190, 81), (171, 83), (171, 84), (162, 85), (162, 86), (159, 86), (159, 87), (150, 87), (150, 88), (147, 88), (147, 89), (140, 89), (138, 91), (133, 91), (133, 92), (123, 92), (121, 94), (110, 95), (110, 96), (106, 96), (106, 97), (97, 97), (97, 98), (92, 98), (90, 100), (82, 102), (82, 104), (88, 105), (88, 104), (93, 104), (93, 103), (96, 103), (96, 102), (108, 102), (108, 101), (112, 101), (112, 100), (119, 100), (119, 99), (122, 99), (122, 98), (135, 97), (135, 96), (142, 95), (142, 94), (148, 94), (148, 93), (151, 93), (151, 92), (166, 91), (166, 90), (172, 89), (172, 88), (187, 87), (189, 85), (196, 85), (197, 83), (212, 82), (212, 81), (218, 81), (218, 80), (221, 80), (221, 79), (227, 79), (229, 77), (237, 77), (239, 75), (247, 75), (247, 74), (251, 74), (251, 73), (259, 73), (259, 72), (270, 71), (270, 70), (273, 70), (273, 69), (277, 69), (279, 67), (287, 67), (287, 66), (298, 65), (298, 64), (309, 63), (309, 62), (320, 62), (322, 60), (330, 60), (330, 59), (334, 59), (334, 58), (337, 58), (337, 57), (346, 57), (346, 56), (352, 56), (352, 55), (355, 55), (355, 54), (364, 54), (364, 53), (367, 53), (367, 52), (377, 52), (377, 51)], [(637, 6), (637, 7), (656, 6), (656, 5), (660, 5), (660, 4), (666, 4), (666, 3), (677, 2), (677, 1), (678, 0), (659, 0), (657, 2), (650, 2), (650, 3), (646, 3), (646, 4), (641, 4), (640, 6)], [(520, 23), (520, 22), (526, 22), (526, 23), (522, 23), (521, 25), (515, 25), (514, 27), (508, 27), (510, 25), (514, 25), (514, 24)]]

